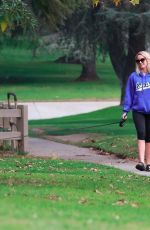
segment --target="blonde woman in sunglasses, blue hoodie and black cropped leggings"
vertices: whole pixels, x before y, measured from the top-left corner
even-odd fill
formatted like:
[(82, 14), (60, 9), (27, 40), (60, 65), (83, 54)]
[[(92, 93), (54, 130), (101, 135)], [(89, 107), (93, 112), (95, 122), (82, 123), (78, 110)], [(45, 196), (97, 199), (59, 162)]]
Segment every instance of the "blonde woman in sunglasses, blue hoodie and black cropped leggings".
[(138, 158), (136, 169), (150, 171), (150, 54), (140, 51), (135, 56), (136, 72), (128, 79), (122, 119), (132, 110), (137, 131)]

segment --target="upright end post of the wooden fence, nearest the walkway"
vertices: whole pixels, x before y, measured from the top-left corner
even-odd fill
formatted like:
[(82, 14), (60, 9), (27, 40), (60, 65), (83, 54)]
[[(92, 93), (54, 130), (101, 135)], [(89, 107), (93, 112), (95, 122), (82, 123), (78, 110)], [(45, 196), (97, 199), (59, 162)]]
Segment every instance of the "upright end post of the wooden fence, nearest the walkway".
[(21, 132), (21, 140), (18, 141), (18, 150), (26, 152), (28, 142), (28, 107), (18, 105), (17, 109), (21, 110), (21, 117), (16, 118), (17, 130)]

